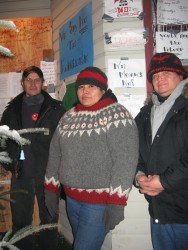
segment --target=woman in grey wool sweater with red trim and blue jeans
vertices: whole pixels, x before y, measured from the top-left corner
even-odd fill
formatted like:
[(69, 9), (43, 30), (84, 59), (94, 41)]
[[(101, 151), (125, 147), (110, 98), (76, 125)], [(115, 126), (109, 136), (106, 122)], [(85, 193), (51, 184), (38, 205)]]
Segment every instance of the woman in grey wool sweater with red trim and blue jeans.
[(74, 250), (101, 249), (124, 219), (138, 161), (138, 132), (127, 109), (97, 67), (76, 80), (79, 103), (61, 118), (45, 176), (46, 205), (54, 214), (60, 184), (66, 193)]

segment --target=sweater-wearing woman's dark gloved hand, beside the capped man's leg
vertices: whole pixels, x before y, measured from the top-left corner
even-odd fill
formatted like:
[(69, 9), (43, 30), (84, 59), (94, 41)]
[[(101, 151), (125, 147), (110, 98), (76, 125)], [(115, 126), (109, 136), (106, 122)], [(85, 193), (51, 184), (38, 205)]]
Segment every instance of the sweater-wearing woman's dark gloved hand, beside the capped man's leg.
[(45, 204), (48, 212), (52, 218), (56, 218), (58, 216), (58, 196), (56, 193), (50, 192), (48, 190), (45, 190), (44, 193)]

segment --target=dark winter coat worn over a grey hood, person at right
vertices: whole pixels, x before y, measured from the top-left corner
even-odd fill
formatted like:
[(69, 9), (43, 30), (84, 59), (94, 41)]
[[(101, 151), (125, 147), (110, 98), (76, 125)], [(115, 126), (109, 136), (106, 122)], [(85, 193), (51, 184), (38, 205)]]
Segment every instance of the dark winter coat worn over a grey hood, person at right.
[(188, 224), (188, 86), (176, 99), (152, 143), (150, 100), (135, 118), (140, 137), (138, 171), (157, 174), (164, 187), (145, 195), (149, 212), (159, 223)]

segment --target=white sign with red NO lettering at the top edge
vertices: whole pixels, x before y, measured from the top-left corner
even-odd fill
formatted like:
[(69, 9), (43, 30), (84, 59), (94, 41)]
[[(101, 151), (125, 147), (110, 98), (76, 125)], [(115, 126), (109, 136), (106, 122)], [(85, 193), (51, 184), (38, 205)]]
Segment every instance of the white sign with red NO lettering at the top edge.
[(105, 0), (105, 14), (113, 18), (138, 17), (142, 12), (140, 0)]

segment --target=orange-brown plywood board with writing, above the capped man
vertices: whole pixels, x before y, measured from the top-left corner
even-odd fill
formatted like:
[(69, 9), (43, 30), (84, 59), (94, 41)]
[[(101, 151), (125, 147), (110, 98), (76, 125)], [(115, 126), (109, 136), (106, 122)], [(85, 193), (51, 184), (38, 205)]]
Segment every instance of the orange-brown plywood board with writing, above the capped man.
[(23, 71), (30, 65), (40, 65), (43, 50), (52, 48), (51, 17), (12, 19), (18, 32), (0, 31), (0, 44), (9, 48), (14, 58), (0, 60), (0, 72)]

